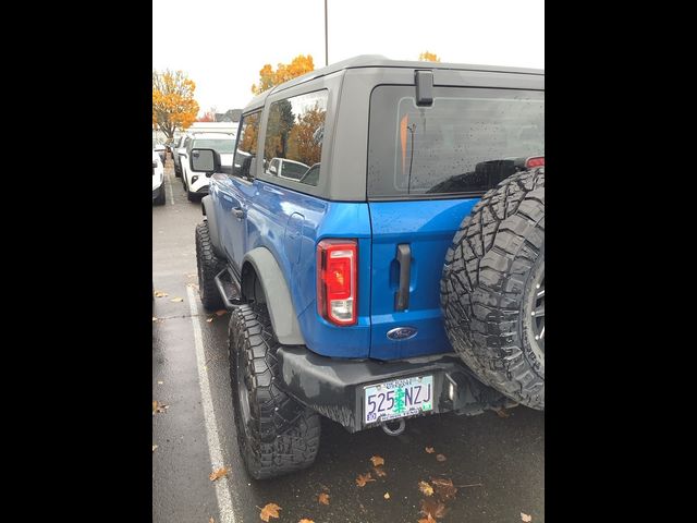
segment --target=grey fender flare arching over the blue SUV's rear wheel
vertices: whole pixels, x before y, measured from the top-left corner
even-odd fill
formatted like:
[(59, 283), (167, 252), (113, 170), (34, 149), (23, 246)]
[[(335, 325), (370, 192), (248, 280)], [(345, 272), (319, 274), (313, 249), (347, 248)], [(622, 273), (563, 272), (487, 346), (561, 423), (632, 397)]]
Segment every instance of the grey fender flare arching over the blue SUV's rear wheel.
[(284, 345), (304, 345), (305, 338), (297, 323), (288, 283), (271, 251), (266, 247), (256, 247), (244, 256), (242, 263), (243, 293), (245, 293), (244, 289), (249, 285), (248, 280), (245, 283), (248, 266), (252, 266), (257, 273), (257, 281), (261, 284), (273, 332), (279, 342)]

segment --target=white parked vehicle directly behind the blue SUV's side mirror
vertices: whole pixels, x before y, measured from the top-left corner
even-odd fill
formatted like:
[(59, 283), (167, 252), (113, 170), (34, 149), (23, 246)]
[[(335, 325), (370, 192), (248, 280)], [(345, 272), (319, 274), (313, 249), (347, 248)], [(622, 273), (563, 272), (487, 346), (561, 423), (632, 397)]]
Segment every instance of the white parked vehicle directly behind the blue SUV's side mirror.
[(196, 133), (187, 141), (184, 153), (180, 153), (182, 169), (182, 185), (189, 202), (200, 200), (208, 194), (208, 182), (211, 172), (193, 173), (189, 170), (192, 150), (195, 148), (210, 148), (220, 155), (221, 168), (232, 170), (232, 157), (235, 146), (235, 135), (232, 133)]

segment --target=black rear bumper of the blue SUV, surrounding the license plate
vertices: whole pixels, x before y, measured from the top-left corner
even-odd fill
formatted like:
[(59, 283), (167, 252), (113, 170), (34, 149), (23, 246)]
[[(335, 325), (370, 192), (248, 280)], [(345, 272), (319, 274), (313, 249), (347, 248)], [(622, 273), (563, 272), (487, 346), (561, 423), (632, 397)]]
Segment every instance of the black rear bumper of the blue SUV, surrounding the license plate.
[(364, 423), (365, 387), (398, 378), (433, 376), (433, 410), (421, 415), (451, 411), (473, 415), (513, 404), (482, 385), (454, 353), (379, 362), (338, 360), (305, 348), (282, 346), (277, 357), (284, 390), (351, 433), (380, 425)]

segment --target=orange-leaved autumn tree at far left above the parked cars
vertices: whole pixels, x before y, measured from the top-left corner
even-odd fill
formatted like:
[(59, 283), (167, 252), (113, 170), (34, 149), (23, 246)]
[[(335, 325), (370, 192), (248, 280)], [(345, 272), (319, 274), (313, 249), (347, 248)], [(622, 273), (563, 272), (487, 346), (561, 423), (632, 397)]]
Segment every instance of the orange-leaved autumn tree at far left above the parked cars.
[(182, 71), (152, 71), (152, 125), (168, 139), (174, 131), (187, 129), (198, 114), (194, 99), (196, 84)]

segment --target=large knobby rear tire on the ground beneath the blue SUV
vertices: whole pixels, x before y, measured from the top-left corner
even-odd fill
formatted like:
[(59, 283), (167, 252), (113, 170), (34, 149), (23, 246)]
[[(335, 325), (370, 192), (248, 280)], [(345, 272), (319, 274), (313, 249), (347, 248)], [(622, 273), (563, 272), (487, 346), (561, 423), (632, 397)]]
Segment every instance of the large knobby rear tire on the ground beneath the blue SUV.
[(278, 340), (266, 305), (243, 305), (230, 318), (230, 377), (245, 467), (267, 479), (310, 466), (319, 449), (319, 415), (278, 387)]

